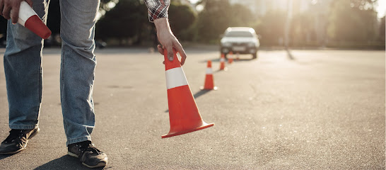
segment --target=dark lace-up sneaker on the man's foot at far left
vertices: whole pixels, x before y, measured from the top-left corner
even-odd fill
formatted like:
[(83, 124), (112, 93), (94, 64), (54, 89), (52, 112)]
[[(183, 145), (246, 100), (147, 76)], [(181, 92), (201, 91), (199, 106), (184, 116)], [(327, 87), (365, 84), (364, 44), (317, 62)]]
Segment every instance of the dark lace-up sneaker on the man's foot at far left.
[(28, 140), (34, 137), (39, 128), (32, 130), (11, 130), (6, 140), (1, 142), (0, 154), (16, 154), (27, 147)]

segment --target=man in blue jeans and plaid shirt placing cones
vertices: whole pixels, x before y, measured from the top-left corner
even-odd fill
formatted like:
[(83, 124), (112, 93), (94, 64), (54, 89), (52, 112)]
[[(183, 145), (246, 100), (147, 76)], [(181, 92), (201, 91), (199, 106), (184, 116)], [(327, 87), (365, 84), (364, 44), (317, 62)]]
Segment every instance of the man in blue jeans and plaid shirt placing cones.
[[(30, 32), (18, 21), (19, 6), (23, 0), (0, 0), (0, 14), (8, 21), (4, 71), (9, 107), (10, 134), (1, 142), (0, 154), (16, 154), (39, 132), (38, 118), (42, 101), (42, 38)], [(49, 0), (25, 0), (35, 12), (47, 20)], [(60, 0), (62, 61), (60, 94), (64, 131), (68, 154), (78, 157), (90, 167), (107, 164), (107, 155), (91, 142), (95, 126), (93, 84), (96, 66), (94, 30), (100, 1)], [(145, 0), (149, 20), (156, 25), (158, 51), (172, 48), (186, 55), (180, 42), (172, 34), (168, 23), (170, 0)], [(11, 12), (12, 11), (12, 12)]]

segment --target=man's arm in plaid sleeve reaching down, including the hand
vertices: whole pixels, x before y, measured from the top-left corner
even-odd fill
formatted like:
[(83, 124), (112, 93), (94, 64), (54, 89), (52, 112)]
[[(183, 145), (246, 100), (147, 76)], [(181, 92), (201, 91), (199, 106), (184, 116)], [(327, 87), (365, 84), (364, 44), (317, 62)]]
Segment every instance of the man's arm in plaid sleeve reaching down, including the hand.
[(158, 52), (163, 55), (163, 49), (166, 49), (168, 51), (168, 59), (172, 61), (172, 49), (175, 48), (180, 53), (181, 65), (183, 65), (187, 55), (180, 42), (173, 35), (168, 21), (170, 0), (145, 0), (145, 4), (148, 7), (148, 19), (156, 25), (157, 37), (162, 45), (162, 47), (158, 45)]

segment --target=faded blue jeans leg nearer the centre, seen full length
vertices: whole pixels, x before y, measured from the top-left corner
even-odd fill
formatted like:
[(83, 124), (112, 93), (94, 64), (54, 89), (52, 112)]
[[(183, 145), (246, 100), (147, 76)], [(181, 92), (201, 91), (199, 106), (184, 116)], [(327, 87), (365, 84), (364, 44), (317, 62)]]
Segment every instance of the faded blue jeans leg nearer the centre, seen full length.
[(95, 127), (93, 84), (98, 0), (60, 0), (62, 62), (60, 92), (66, 145), (91, 140)]

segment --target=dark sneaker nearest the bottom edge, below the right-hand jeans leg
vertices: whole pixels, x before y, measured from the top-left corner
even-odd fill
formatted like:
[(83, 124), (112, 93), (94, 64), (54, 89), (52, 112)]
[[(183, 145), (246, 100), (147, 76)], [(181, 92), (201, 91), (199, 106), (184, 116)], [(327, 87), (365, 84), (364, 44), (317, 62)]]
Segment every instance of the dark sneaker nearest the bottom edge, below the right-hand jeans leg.
[(94, 147), (91, 141), (70, 144), (67, 153), (71, 157), (79, 158), (88, 168), (103, 167), (107, 164), (107, 155)]

